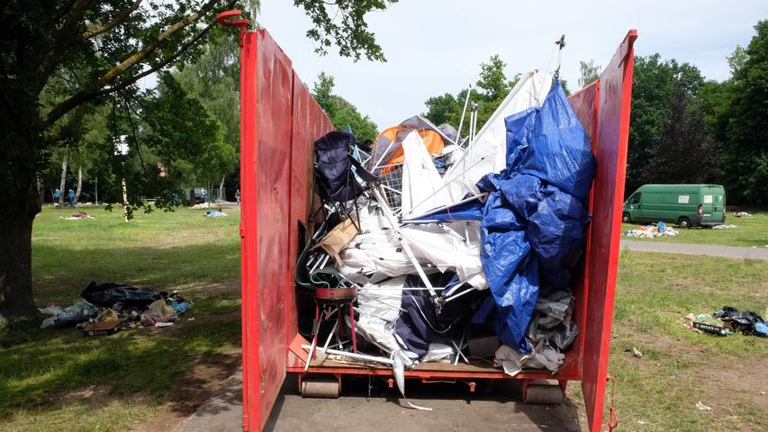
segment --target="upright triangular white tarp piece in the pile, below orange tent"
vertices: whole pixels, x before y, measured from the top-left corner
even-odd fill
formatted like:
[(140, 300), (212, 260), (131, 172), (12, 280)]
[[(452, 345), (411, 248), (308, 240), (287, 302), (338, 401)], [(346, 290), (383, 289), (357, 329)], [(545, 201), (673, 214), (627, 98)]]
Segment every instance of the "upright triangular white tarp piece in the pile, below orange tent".
[(418, 131), (412, 130), (402, 140), (402, 150), (402, 214), (421, 214), (451, 203)]

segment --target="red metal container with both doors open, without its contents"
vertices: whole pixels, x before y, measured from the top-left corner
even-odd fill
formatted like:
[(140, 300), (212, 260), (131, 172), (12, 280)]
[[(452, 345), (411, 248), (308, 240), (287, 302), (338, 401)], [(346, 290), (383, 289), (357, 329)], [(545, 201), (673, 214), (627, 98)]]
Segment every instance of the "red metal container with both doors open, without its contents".
[[(306, 220), (312, 187), (312, 145), (333, 129), (330, 120), (296, 75), (290, 58), (265, 30), (245, 31), (236, 14), (220, 22), (239, 26), (240, 191), (242, 213), (243, 428), (261, 430), (286, 372), (305, 374), (308, 342), (298, 332), (294, 266), (298, 222)], [(627, 163), (633, 43), (629, 31), (600, 78), (570, 96), (592, 139), (597, 174), (592, 185), (592, 223), (583, 268), (574, 283), (578, 338), (556, 375), (522, 372), (514, 378), (488, 365), (421, 364), (406, 378), (556, 379), (564, 387), (581, 381), (592, 431), (601, 430), (608, 373), (621, 206)], [(307, 374), (375, 374), (388, 368), (310, 365)]]

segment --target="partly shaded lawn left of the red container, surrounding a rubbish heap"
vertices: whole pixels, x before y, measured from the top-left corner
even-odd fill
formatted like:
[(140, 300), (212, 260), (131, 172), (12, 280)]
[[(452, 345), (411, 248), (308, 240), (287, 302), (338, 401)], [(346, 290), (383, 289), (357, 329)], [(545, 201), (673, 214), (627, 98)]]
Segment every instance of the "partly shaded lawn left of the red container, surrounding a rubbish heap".
[(38, 305), (67, 306), (96, 280), (178, 289), (194, 308), (172, 328), (109, 337), (40, 329), (40, 320), (2, 330), (0, 430), (126, 430), (167, 410), (174, 384), (194, 365), (237, 357), (239, 211), (155, 211), (125, 223), (119, 211), (83, 210), (96, 219), (60, 220), (73, 211), (46, 208), (35, 220)]

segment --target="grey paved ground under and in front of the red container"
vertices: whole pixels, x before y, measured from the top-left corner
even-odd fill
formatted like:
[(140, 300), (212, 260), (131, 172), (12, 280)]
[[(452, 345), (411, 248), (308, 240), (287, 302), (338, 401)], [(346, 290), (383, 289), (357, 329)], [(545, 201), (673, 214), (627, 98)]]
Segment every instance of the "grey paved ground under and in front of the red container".
[[(409, 399), (432, 408), (419, 411), (403, 408), (400, 393), (374, 382), (368, 398), (367, 379), (347, 380), (339, 399), (302, 399), (295, 374), (285, 378), (275, 409), (265, 430), (273, 432), (421, 432), (425, 430), (491, 430), (530, 432), (575, 432), (586, 430), (584, 411), (571, 401), (556, 406), (525, 405), (520, 402), (520, 385), (515, 380), (494, 383), (483, 392), (469, 393), (463, 383), (406, 383)], [(578, 385), (573, 383), (572, 385)], [(182, 432), (225, 432), (240, 430), (242, 424), (242, 382), (235, 374), (221, 390), (203, 404), (181, 427)], [(581, 424), (580, 424), (581, 423)]]

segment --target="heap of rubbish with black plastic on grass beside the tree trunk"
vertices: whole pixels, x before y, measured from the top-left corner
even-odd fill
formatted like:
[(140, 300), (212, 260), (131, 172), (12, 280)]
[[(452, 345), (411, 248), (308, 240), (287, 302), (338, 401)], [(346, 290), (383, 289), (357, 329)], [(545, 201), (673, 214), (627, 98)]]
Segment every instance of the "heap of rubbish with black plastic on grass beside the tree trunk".
[(170, 327), (179, 315), (192, 308), (192, 302), (177, 292), (169, 294), (126, 284), (91, 282), (80, 296), (83, 300), (68, 308), (50, 303), (40, 309), (42, 314), (50, 315), (42, 321), (41, 329), (75, 325), (86, 336), (95, 336), (120, 329)]

